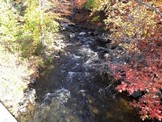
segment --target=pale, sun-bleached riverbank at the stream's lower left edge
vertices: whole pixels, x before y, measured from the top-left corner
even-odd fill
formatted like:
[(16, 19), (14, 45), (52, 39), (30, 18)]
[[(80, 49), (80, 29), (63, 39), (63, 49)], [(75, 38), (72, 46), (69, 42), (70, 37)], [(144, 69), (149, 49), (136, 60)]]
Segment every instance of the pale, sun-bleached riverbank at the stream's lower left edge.
[(29, 65), (27, 60), (20, 60), (17, 54), (11, 54), (1, 49), (0, 98), (14, 116), (18, 115), (19, 103), (24, 98), (24, 90), (28, 88), (27, 79), (34, 72)]

